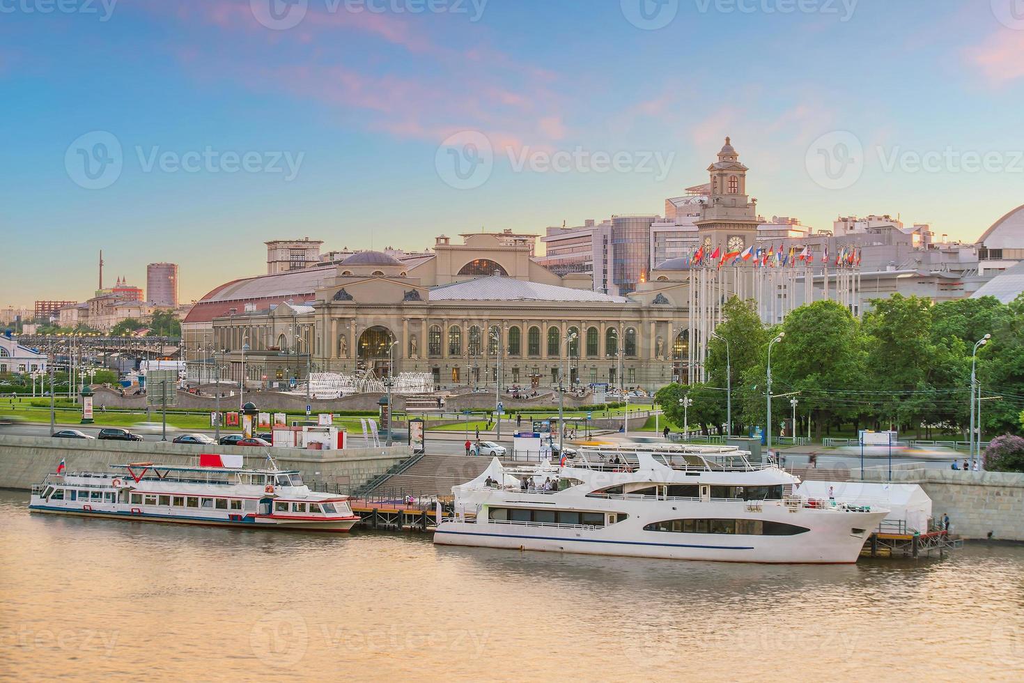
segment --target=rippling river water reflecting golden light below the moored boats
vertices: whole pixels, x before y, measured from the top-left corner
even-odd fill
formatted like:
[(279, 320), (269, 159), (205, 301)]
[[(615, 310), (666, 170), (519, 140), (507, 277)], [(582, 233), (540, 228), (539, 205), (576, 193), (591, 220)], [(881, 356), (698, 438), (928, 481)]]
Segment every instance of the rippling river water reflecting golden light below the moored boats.
[(1024, 547), (770, 566), (29, 514), (0, 678), (1021, 680)]

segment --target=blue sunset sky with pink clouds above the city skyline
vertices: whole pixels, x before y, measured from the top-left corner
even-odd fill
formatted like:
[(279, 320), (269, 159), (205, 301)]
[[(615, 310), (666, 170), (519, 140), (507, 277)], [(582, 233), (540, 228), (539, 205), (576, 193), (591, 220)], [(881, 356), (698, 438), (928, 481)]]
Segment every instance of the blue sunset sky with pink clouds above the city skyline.
[(1024, 0), (0, 0), (0, 304), (662, 213), (973, 242), (1024, 199)]

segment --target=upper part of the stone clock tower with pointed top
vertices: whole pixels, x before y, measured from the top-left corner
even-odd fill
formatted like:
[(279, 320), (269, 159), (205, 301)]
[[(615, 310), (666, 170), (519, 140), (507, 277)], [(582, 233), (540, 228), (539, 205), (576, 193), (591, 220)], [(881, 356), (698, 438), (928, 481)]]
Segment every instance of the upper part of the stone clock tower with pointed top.
[(711, 184), (708, 201), (700, 207), (700, 217), (694, 221), (700, 231), (700, 243), (742, 251), (758, 238), (757, 200), (746, 195), (746, 171), (731, 140), (718, 153), (718, 161), (708, 167)]

